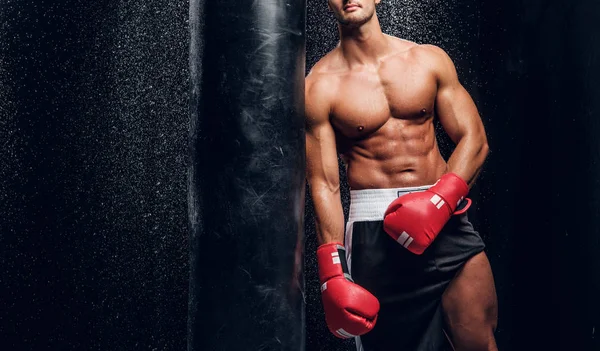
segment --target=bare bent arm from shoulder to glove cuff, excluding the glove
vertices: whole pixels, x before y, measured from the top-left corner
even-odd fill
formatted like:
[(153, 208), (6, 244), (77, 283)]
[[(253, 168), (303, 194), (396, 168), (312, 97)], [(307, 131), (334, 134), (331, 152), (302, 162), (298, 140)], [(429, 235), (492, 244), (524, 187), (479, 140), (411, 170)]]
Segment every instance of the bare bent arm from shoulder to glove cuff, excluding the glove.
[(444, 130), (456, 144), (448, 160), (448, 172), (473, 185), (488, 154), (488, 143), (481, 117), (473, 99), (460, 84), (456, 68), (440, 48), (428, 46), (437, 73), (436, 113)]

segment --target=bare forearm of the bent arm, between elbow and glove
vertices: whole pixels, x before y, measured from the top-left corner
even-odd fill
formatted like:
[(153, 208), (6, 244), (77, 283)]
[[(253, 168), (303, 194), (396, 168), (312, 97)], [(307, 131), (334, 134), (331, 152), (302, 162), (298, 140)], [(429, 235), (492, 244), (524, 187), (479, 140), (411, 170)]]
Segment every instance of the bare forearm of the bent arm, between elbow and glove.
[(448, 172), (455, 173), (464, 179), (470, 188), (481, 172), (488, 151), (485, 138), (462, 138), (448, 160)]

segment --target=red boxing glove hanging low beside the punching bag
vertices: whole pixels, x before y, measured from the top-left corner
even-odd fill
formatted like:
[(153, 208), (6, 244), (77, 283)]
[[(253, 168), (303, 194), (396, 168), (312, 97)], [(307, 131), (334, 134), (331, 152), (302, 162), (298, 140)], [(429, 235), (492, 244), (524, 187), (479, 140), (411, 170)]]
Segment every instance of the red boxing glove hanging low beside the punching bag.
[(349, 339), (373, 329), (379, 300), (352, 281), (344, 246), (339, 243), (319, 246), (317, 262), (325, 320), (333, 335)]

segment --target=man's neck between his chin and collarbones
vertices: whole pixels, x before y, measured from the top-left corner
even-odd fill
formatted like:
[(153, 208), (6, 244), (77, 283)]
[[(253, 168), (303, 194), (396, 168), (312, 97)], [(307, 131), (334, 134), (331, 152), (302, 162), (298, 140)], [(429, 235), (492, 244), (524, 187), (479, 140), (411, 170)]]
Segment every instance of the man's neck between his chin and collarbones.
[(339, 26), (339, 32), (340, 47), (350, 66), (377, 64), (387, 51), (387, 39), (376, 15), (360, 27)]

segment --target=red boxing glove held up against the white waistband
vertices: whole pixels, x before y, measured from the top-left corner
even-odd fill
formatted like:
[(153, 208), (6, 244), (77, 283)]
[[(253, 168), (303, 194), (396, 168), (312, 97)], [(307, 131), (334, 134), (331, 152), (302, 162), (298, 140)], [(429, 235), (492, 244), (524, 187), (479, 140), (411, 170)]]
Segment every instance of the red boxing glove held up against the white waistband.
[[(420, 255), (468, 192), (469, 186), (464, 180), (454, 173), (446, 173), (431, 188), (394, 200), (385, 211), (383, 228), (402, 246)], [(470, 204), (467, 199), (467, 205), (456, 214), (464, 213)]]

